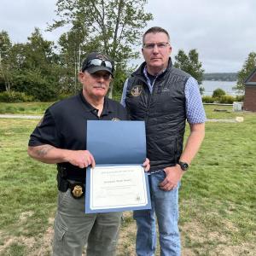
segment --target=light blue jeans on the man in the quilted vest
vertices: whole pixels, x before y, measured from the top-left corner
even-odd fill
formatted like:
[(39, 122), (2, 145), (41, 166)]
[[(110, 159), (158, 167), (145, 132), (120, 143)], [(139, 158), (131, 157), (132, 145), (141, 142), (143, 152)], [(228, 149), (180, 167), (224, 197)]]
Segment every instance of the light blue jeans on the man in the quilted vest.
[(155, 215), (159, 225), (160, 255), (179, 256), (181, 253), (177, 227), (178, 188), (171, 191), (161, 190), (159, 183), (165, 177), (164, 170), (148, 175), (152, 209), (133, 212), (133, 218), (137, 222), (137, 256), (154, 255), (157, 237)]

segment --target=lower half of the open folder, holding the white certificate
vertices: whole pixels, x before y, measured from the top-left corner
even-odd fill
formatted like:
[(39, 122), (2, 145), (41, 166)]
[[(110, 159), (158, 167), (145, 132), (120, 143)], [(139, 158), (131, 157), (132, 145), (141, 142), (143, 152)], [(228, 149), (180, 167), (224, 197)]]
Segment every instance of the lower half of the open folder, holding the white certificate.
[(85, 212), (122, 212), (151, 207), (148, 177), (143, 166), (96, 166), (87, 170), (87, 175), (90, 183), (86, 185), (90, 184), (90, 189), (86, 188)]

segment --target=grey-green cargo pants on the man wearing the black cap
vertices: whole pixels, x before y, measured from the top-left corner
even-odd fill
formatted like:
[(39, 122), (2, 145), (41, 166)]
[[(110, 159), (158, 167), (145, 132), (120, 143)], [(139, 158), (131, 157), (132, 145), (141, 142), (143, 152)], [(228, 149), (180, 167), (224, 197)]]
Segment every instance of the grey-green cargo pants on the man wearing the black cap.
[(74, 199), (59, 192), (55, 217), (54, 256), (113, 256), (118, 241), (122, 212), (84, 213), (84, 197)]

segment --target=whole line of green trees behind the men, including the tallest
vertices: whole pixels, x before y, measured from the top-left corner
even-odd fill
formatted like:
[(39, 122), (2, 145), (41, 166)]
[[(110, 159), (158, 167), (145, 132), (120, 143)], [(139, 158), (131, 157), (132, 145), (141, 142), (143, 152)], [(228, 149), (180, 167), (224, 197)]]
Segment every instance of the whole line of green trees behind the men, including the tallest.
[[(146, 3), (147, 0), (58, 0), (57, 20), (49, 24), (48, 31), (61, 26), (68, 26), (69, 30), (61, 34), (56, 44), (44, 39), (38, 28), (23, 44), (13, 44), (8, 32), (0, 32), (0, 92), (19, 91), (39, 101), (74, 94), (81, 88), (81, 61), (91, 51), (102, 51), (115, 61), (116, 67), (109, 96), (120, 95), (126, 77), (135, 69), (129, 61), (138, 57), (136, 49), (142, 45), (143, 30), (153, 20), (153, 15), (144, 10)], [(195, 77), (203, 91), (204, 70), (196, 49), (187, 54), (180, 49), (174, 66)], [(247, 73), (247, 67), (244, 69), (241, 75)]]

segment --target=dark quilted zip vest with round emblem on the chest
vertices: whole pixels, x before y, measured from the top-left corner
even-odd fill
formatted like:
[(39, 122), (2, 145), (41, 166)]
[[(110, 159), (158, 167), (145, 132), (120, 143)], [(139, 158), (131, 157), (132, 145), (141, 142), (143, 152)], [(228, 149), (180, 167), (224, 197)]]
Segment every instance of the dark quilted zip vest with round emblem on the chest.
[(175, 166), (183, 152), (186, 124), (184, 88), (189, 74), (172, 67), (154, 82), (150, 94), (143, 75), (145, 62), (128, 80), (125, 104), (131, 120), (145, 120), (150, 171)]

